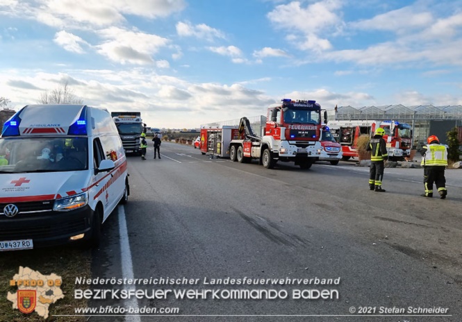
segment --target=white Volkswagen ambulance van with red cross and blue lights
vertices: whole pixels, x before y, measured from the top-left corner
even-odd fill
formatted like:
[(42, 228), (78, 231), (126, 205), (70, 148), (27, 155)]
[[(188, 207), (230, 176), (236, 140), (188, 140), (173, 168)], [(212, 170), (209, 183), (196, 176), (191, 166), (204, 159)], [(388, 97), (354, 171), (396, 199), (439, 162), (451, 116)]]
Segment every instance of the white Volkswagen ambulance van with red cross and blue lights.
[(0, 137), (0, 251), (83, 241), (129, 197), (110, 113), (87, 105), (27, 105)]

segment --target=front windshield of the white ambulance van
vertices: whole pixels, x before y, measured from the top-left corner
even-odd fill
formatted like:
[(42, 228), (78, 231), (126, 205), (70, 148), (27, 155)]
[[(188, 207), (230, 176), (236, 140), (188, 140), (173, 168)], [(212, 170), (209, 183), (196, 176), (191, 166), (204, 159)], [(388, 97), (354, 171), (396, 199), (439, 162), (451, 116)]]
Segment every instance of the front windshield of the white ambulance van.
[(0, 173), (88, 169), (86, 137), (0, 138)]

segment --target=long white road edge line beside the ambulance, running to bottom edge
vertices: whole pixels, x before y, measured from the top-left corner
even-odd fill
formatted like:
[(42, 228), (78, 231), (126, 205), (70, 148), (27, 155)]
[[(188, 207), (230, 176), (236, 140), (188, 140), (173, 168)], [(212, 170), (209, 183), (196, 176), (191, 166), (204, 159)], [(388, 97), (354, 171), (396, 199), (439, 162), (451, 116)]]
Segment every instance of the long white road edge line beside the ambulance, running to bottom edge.
[[(127, 280), (133, 280), (133, 261), (131, 260), (129, 232), (126, 229), (125, 209), (123, 205), (117, 207), (119, 214), (119, 240), (120, 240), (120, 260), (122, 262), (122, 276)], [(136, 289), (135, 285), (124, 285), (124, 289)], [(136, 297), (124, 300), (125, 307), (131, 307), (138, 312), (138, 300)], [(140, 316), (125, 316), (125, 321), (140, 322)]]

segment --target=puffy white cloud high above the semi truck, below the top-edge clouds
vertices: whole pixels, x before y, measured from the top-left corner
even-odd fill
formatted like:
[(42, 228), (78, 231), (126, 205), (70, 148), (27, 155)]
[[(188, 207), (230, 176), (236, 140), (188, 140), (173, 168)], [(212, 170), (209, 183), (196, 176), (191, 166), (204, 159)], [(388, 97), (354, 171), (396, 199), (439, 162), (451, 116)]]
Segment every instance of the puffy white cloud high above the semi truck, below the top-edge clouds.
[(104, 39), (104, 42), (95, 46), (97, 52), (121, 64), (152, 64), (154, 53), (170, 42), (158, 35), (126, 31), (117, 27), (98, 31), (98, 35)]

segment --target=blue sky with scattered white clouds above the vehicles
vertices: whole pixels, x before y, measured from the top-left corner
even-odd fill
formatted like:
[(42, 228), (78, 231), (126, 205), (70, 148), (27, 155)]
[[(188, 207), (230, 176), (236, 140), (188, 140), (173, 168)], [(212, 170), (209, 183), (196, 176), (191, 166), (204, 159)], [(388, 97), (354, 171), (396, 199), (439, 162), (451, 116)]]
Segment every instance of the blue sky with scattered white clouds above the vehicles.
[(322, 108), (462, 104), (462, 0), (0, 0), (0, 96), (66, 82), (147, 126)]

